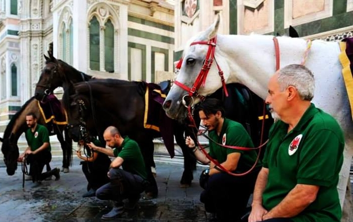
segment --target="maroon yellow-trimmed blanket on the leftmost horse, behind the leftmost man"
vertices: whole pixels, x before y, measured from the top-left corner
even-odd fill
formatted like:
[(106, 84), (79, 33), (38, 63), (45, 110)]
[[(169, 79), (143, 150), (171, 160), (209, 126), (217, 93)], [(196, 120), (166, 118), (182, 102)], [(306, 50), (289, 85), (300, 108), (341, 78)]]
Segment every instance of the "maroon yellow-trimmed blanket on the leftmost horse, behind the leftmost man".
[(66, 111), (56, 96), (48, 95), (43, 101), (38, 101), (38, 107), (45, 123), (52, 121), (57, 125), (67, 124)]

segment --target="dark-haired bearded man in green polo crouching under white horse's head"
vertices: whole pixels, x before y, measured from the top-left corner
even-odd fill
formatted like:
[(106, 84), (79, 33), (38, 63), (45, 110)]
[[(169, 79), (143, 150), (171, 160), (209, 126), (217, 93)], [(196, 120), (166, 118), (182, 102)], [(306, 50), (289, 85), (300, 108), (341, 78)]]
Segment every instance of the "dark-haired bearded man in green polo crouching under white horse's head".
[[(218, 99), (206, 99), (197, 110), (201, 124), (207, 128), (211, 138), (208, 154), (230, 172), (241, 174), (249, 171), (256, 164), (255, 150), (243, 151), (223, 146), (254, 147), (243, 125), (224, 118), (224, 106)], [(190, 137), (186, 138), (185, 143), (193, 149), (200, 162), (210, 164), (200, 177), (200, 185), (205, 189), (201, 193), (200, 201), (205, 204), (205, 210), (214, 213), (219, 222), (239, 221), (245, 214), (249, 197), (253, 192), (261, 168), (260, 163), (246, 175), (233, 176), (223, 172), (211, 162), (195, 147)]]

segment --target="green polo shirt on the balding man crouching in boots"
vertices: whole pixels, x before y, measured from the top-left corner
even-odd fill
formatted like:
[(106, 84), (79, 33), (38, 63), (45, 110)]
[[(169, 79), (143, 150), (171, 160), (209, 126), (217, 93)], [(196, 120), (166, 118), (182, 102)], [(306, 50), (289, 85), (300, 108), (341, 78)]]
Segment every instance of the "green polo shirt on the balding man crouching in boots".
[(136, 141), (126, 136), (121, 146), (115, 148), (113, 152), (115, 157), (121, 157), (124, 160), (123, 170), (147, 179), (145, 162)]

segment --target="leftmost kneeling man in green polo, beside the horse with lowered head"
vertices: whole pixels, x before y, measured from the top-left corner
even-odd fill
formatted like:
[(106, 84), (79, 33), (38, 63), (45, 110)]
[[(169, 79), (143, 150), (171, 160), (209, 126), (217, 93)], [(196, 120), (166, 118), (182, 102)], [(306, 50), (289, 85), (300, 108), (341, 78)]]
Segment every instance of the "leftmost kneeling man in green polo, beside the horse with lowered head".
[(37, 124), (37, 117), (34, 113), (26, 115), (26, 123), (29, 127), (25, 132), (28, 147), (18, 157), (18, 161), (22, 162), (23, 158), (26, 157), (26, 163), (30, 166), (29, 176), (32, 177), (33, 183), (40, 183), (52, 175), (55, 176), (55, 180), (60, 179), (60, 170), (58, 168), (42, 173), (44, 165), (51, 161), (48, 129), (45, 126)]

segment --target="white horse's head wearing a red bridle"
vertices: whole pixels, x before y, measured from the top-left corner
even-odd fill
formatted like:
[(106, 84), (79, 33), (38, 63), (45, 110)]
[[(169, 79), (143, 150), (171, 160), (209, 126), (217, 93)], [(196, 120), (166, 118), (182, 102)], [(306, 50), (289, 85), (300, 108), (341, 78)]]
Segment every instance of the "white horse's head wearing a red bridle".
[(217, 36), (219, 23), (218, 14), (216, 21), (206, 31), (191, 38), (184, 49), (181, 66), (177, 67), (180, 68), (179, 73), (163, 103), (163, 109), (170, 118), (186, 118), (183, 97), (187, 100), (186, 103), (197, 103), (222, 87), (218, 67), (222, 68), (224, 80), (227, 81), (229, 65), (217, 47), (217, 37), (221, 37)]

